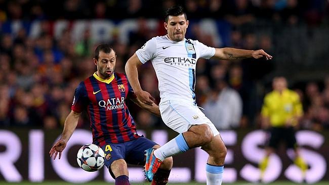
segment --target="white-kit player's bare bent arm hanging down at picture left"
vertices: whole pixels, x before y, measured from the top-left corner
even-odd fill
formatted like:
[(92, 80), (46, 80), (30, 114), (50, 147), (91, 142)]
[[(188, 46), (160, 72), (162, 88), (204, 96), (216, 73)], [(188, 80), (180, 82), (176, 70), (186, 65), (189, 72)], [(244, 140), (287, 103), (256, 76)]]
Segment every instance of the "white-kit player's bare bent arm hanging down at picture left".
[(137, 98), (144, 104), (152, 106), (154, 103), (154, 98), (147, 92), (144, 91), (138, 80), (138, 70), (137, 68), (141, 66), (142, 63), (138, 59), (136, 53), (127, 61), (125, 70), (129, 80), (129, 83), (134, 89)]

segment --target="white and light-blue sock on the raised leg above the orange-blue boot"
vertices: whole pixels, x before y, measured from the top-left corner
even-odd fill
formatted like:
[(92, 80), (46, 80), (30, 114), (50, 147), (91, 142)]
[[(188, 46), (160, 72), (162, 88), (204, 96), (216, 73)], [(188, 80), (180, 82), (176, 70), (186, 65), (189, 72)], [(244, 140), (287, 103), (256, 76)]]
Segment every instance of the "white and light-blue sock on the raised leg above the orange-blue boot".
[(165, 160), (167, 157), (173, 156), (175, 154), (183, 153), (189, 148), (185, 141), (183, 134), (179, 134), (171, 141), (163, 145), (162, 147), (156, 149), (153, 154), (156, 158), (161, 161)]

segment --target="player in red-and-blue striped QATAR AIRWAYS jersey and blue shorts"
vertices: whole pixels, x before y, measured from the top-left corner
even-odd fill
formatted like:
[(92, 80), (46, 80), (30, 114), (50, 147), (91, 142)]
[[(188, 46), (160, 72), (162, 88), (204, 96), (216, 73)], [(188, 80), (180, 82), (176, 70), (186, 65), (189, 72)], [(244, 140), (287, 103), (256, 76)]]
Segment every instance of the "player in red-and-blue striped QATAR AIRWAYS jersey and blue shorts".
[[(98, 45), (93, 60), (97, 71), (80, 82), (75, 89), (72, 111), (65, 120), (62, 136), (49, 153), (54, 159), (57, 154), (61, 158), (81, 112), (87, 109), (93, 144), (105, 152), (105, 166), (115, 179), (115, 184), (127, 185), (130, 184), (127, 163), (144, 165), (144, 151), (159, 146), (137, 134), (126, 99), (130, 98), (138, 106), (157, 116), (160, 116), (159, 108), (155, 104), (148, 105), (139, 101), (126, 75), (114, 72), (116, 55), (110, 45)], [(172, 158), (163, 161), (152, 184), (166, 184), (172, 165)]]

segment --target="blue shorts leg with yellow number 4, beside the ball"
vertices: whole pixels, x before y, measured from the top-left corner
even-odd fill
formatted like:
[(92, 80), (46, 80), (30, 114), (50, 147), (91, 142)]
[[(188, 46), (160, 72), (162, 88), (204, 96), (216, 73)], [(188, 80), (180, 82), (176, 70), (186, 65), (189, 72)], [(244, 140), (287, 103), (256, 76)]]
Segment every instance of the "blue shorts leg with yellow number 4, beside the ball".
[[(125, 143), (106, 144), (106, 145), (102, 146), (101, 148), (103, 149), (103, 151), (105, 153), (104, 165), (110, 170), (110, 172), (111, 172), (111, 164), (114, 161), (119, 160), (119, 159), (125, 160), (125, 152), (126, 152)], [(112, 173), (111, 173), (111, 175), (112, 175)]]

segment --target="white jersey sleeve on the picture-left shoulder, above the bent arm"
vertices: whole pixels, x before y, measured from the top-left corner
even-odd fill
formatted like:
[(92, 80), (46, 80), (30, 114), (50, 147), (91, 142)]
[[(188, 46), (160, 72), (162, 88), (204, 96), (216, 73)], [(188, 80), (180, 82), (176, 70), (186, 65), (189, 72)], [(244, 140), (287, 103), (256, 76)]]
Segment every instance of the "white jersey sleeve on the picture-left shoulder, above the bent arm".
[(156, 54), (156, 40), (155, 37), (148, 40), (142, 48), (136, 51), (138, 59), (144, 64), (154, 58)]

